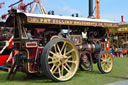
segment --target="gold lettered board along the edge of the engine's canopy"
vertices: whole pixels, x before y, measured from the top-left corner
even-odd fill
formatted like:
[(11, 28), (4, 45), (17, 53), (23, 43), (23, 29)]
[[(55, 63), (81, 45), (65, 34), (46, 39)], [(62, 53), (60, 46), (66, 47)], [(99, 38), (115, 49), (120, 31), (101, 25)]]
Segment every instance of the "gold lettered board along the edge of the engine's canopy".
[(117, 23), (79, 21), (79, 20), (64, 20), (64, 19), (38, 18), (38, 17), (28, 17), (27, 21), (28, 21), (28, 23), (40, 23), (40, 24), (102, 26), (102, 27), (117, 27), (118, 26)]

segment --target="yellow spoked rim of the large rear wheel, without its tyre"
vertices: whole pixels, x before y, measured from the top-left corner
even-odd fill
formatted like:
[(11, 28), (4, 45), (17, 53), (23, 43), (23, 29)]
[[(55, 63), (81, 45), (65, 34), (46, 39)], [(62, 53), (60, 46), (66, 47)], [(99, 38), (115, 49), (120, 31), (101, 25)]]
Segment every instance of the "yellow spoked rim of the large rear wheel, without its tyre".
[(71, 79), (79, 66), (79, 56), (76, 47), (67, 40), (56, 42), (49, 51), (48, 66), (50, 73), (56, 79), (61, 81)]

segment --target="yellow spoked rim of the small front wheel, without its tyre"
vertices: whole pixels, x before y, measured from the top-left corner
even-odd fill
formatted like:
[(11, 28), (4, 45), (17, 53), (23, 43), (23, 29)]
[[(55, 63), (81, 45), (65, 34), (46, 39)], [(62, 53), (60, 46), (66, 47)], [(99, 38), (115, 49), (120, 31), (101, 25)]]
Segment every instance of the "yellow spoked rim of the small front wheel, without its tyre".
[(110, 53), (104, 53), (101, 56), (101, 67), (104, 72), (110, 72), (113, 66), (113, 57)]

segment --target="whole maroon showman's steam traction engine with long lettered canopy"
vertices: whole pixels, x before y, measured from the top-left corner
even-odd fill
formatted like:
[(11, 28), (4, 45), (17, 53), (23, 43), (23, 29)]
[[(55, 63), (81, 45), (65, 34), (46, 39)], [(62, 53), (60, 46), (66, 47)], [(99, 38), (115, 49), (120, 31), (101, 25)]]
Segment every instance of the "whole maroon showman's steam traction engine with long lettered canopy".
[(8, 79), (14, 78), (18, 68), (27, 74), (44, 73), (54, 81), (70, 80), (79, 66), (89, 70), (92, 63), (97, 63), (102, 73), (112, 70), (112, 56), (103, 45), (105, 28), (117, 27), (117, 23), (16, 10), (9, 14), (6, 26), (14, 27), (15, 62)]

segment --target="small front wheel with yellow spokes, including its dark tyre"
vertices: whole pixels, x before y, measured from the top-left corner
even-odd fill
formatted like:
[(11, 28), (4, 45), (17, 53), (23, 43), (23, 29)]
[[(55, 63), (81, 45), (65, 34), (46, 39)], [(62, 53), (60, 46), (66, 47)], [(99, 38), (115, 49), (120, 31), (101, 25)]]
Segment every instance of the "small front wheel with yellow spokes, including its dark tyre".
[(101, 73), (111, 72), (113, 68), (113, 57), (111, 53), (103, 51), (98, 57), (97, 65)]

